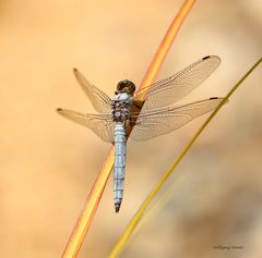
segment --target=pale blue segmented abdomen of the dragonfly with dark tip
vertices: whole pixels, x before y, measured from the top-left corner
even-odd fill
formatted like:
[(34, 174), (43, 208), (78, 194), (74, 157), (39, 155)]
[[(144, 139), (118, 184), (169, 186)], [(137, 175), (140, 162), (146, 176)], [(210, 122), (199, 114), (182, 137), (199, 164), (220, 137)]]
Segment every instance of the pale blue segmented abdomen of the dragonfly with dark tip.
[(116, 122), (115, 162), (114, 162), (114, 199), (116, 212), (119, 211), (122, 201), (126, 156), (127, 156), (127, 135), (124, 124), (122, 122)]

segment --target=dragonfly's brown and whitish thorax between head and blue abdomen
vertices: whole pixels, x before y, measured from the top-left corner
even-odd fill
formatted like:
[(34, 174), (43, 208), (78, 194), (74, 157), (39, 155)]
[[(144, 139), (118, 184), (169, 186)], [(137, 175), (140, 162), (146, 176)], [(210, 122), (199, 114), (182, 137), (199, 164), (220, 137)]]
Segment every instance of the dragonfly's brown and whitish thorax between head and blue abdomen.
[(126, 122), (131, 118), (132, 97), (127, 93), (120, 93), (111, 102), (112, 119), (116, 122)]

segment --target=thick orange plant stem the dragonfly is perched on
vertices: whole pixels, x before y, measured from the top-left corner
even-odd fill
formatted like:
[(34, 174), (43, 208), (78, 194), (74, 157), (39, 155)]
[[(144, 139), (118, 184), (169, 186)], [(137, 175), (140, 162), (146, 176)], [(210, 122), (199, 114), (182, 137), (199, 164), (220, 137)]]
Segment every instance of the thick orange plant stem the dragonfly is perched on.
[[(195, 0), (186, 0), (181, 9), (179, 10), (177, 16), (172, 21), (170, 27), (167, 30), (166, 36), (164, 37), (146, 74), (140, 86), (140, 89), (152, 84), (157, 75), (157, 72), (165, 60), (165, 57), (170, 49), (172, 41), (184, 20), (189, 13), (191, 7)], [(114, 165), (114, 152), (115, 148), (112, 147), (106, 158), (106, 161), (100, 170), (100, 173), (97, 175), (97, 179), (92, 187), (92, 191), (88, 194), (87, 200), (81, 214), (76, 221), (76, 224), (73, 229), (73, 232), (69, 238), (69, 242), (62, 254), (62, 258), (76, 257), (80, 247), (84, 241), (85, 234), (90, 229), (91, 222), (94, 218), (95, 211), (102, 198), (103, 192), (106, 186), (106, 182), (109, 177), (110, 171)]]

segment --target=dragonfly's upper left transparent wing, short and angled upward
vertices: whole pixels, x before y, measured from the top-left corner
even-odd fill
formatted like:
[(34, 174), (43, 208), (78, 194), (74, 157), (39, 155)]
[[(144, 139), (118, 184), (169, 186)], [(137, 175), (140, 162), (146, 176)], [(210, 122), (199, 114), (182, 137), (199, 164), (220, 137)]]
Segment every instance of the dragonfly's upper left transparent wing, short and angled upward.
[(74, 69), (73, 72), (94, 109), (99, 113), (109, 113), (111, 109), (111, 99), (104, 91), (92, 85), (76, 69)]

